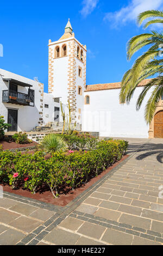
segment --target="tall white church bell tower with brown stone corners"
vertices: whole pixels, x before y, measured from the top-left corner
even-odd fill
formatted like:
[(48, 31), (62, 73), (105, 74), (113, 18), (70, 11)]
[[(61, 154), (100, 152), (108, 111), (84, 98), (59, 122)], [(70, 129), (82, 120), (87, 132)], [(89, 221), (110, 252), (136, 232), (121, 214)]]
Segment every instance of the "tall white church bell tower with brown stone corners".
[(82, 45), (72, 33), (68, 19), (65, 33), (58, 41), (49, 40), (48, 93), (60, 97), (76, 114), (72, 120), (81, 123), (86, 87), (86, 45)]

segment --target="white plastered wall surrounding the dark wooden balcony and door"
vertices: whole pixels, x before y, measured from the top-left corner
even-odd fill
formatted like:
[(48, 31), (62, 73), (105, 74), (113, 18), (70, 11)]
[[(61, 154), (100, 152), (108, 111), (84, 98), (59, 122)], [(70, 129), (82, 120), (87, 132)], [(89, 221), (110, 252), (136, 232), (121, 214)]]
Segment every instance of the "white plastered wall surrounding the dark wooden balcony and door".
[[(18, 109), (18, 124), (17, 124), (17, 130), (18, 131), (30, 131), (33, 130), (35, 126), (39, 126), (39, 119), (41, 118), (41, 115), (39, 112), (41, 112), (40, 106), (41, 106), (41, 99), (43, 97), (41, 96), (41, 90), (39, 87), (39, 82), (36, 82), (34, 80), (30, 80), (26, 77), (22, 77), (16, 74), (13, 74), (9, 71), (0, 69), (0, 114), (4, 115), (4, 119), (7, 122), (8, 121), (8, 108), (15, 108)], [(2, 91), (8, 90), (8, 83), (4, 82), (2, 78), (13, 78), (15, 80), (31, 84), (33, 87), (31, 89), (35, 90), (35, 106), (22, 106), (22, 105), (16, 105), (12, 103), (3, 103), (2, 102)], [(18, 92), (20, 93), (28, 93), (28, 88), (24, 88), (21, 86), (18, 86)]]

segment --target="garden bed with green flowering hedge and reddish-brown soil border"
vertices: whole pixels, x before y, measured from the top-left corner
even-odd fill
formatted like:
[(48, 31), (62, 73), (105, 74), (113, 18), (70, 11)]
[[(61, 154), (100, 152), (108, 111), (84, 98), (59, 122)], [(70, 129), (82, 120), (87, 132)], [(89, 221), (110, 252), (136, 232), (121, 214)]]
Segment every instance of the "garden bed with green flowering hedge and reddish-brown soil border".
[[(51, 137), (59, 146), (51, 154), (43, 149), (32, 154), (0, 150), (0, 182), (5, 189), (64, 206), (126, 158), (127, 141), (68, 136), (69, 151), (67, 147), (64, 151), (60, 147), (62, 138)], [(46, 141), (52, 149), (49, 138)], [(72, 150), (77, 145), (80, 150)], [(84, 150), (85, 145), (88, 150)]]

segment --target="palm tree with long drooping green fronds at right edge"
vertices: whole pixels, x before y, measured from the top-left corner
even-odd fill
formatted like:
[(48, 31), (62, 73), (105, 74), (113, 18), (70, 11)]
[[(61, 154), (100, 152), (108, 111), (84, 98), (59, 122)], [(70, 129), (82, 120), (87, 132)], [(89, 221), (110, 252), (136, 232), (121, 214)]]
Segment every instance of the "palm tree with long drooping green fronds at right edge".
[[(157, 19), (146, 21), (146, 19), (154, 17)], [(140, 26), (143, 21), (146, 21), (143, 28), (147, 28), (154, 23), (163, 23), (163, 12), (158, 10), (144, 11), (137, 18), (138, 25)], [(145, 108), (145, 119), (147, 124), (151, 123), (155, 113), (156, 104), (159, 103), (163, 94), (163, 58), (161, 58), (161, 53), (163, 51), (160, 51), (160, 48), (163, 45), (161, 44), (163, 44), (163, 34), (156, 31), (136, 35), (131, 38), (127, 44), (128, 60), (131, 59), (135, 52), (139, 51), (144, 46), (149, 46), (148, 50), (137, 58), (131, 69), (124, 74), (120, 92), (120, 101), (122, 103), (129, 103), (138, 84), (146, 78), (156, 76), (155, 78), (148, 80), (148, 83), (143, 88), (136, 102), (136, 110), (138, 111), (147, 92), (151, 88), (153, 89)]]

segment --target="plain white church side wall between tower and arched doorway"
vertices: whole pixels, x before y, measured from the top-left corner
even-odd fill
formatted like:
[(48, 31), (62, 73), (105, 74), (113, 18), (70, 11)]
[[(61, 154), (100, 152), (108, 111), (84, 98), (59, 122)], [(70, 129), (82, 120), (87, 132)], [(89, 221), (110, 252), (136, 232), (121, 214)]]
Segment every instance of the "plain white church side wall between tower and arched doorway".
[(83, 131), (99, 131), (100, 136), (148, 138), (149, 126), (144, 111), (148, 95), (139, 112), (136, 100), (142, 87), (136, 88), (130, 104), (119, 103), (120, 89), (85, 92), (90, 95), (90, 105), (84, 105)]

